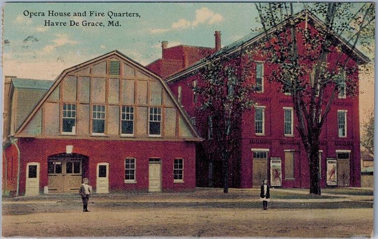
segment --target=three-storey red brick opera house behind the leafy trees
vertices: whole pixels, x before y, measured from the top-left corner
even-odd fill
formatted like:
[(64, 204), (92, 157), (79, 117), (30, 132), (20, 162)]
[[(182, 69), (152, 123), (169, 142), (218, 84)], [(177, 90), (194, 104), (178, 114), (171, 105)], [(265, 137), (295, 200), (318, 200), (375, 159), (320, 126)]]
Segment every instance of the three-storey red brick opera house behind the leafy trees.
[[(299, 23), (298, 27), (324, 27), (311, 14), (308, 14), (307, 20)], [(254, 45), (262, 39), (263, 34), (251, 33), (217, 51), (215, 55), (232, 55), (242, 47)], [(351, 57), (353, 64), (361, 65), (369, 61), (358, 50), (351, 50), (351, 46), (341, 37), (335, 35), (335, 42), (342, 44), (344, 54)], [(336, 58), (331, 54), (329, 63), (333, 64)], [(229, 160), (229, 185), (239, 188), (257, 187), (262, 179), (267, 178), (273, 186), (309, 187), (308, 160), (295, 127), (297, 118), (291, 97), (277, 90), (281, 88), (278, 83), (268, 82), (267, 76), (272, 68), (267, 67), (264, 59), (255, 55), (254, 60), (254, 80), (261, 85), (260, 92), (255, 95), (258, 106), (242, 115), (240, 147)], [(197, 146), (197, 186), (221, 187), (222, 163), (211, 135), (211, 115), (196, 109), (200, 102), (197, 102), (192, 90), (194, 85), (201, 84), (197, 82), (197, 72), (203, 64), (199, 61), (168, 77), (166, 81), (178, 102), (192, 118), (199, 134), (205, 138)], [(352, 77), (358, 81), (358, 75)], [(330, 90), (326, 89), (325, 99), (329, 95)], [(352, 98), (339, 92), (324, 123), (320, 139), (322, 187), (360, 186), (359, 130), (358, 95)], [(336, 175), (330, 180), (327, 172), (332, 172), (333, 169)]]

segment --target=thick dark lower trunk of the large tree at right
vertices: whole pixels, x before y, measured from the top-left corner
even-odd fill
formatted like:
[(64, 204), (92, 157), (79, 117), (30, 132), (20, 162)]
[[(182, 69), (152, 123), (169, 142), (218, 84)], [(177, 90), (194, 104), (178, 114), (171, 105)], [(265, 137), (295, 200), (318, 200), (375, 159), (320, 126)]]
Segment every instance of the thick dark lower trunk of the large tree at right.
[(310, 152), (307, 156), (310, 169), (310, 194), (321, 195), (319, 177), (319, 140), (310, 146)]

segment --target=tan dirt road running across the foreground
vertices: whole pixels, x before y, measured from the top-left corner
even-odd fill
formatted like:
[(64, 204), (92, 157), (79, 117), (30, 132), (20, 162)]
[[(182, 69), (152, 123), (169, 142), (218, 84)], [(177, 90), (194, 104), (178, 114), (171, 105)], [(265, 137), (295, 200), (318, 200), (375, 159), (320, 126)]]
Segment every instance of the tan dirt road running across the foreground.
[[(371, 208), (241, 209), (90, 207), (3, 216), (4, 236), (369, 236)], [(347, 215), (347, 216), (346, 216)]]

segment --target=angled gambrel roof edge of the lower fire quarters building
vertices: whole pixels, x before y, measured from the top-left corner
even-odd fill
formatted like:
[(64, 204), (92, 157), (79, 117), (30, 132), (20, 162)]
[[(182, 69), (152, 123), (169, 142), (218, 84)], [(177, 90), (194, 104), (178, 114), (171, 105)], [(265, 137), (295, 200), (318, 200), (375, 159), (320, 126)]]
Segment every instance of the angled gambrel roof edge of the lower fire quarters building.
[[(42, 107), (42, 105), (44, 104), (44, 102), (47, 101), (47, 99), (50, 97), (50, 95), (53, 93), (53, 91), (55, 90), (55, 88), (57, 88), (57, 86), (60, 84), (60, 82), (70, 73), (70, 72), (73, 72), (73, 71), (76, 71), (76, 70), (80, 70), (81, 68), (85, 68), (87, 67), (88, 65), (90, 64), (93, 64), (93, 63), (96, 63), (96, 62), (99, 62), (101, 60), (104, 60), (106, 58), (109, 58), (109, 57), (117, 57), (125, 62), (127, 62), (128, 64), (138, 68), (138, 70), (140, 70), (141, 72), (143, 72), (143, 74), (146, 74), (147, 76), (155, 79), (155, 80), (158, 80), (163, 88), (165, 89), (166, 93), (168, 94), (168, 97), (170, 98), (170, 100), (174, 103), (174, 106), (176, 107), (176, 109), (178, 110), (179, 114), (181, 115), (184, 123), (188, 126), (188, 128), (190, 129), (191, 133), (194, 135), (194, 138), (191, 138), (191, 139), (188, 139), (188, 140), (194, 140), (194, 141), (199, 141), (201, 140), (201, 137), (199, 136), (199, 134), (197, 133), (197, 131), (195, 130), (193, 124), (191, 123), (189, 117), (187, 116), (186, 112), (180, 107), (180, 105), (177, 103), (177, 101), (175, 100), (172, 92), (170, 91), (169, 87), (167, 86), (166, 82), (160, 78), (158, 75), (156, 75), (155, 73), (151, 72), (150, 70), (148, 70), (147, 68), (145, 68), (144, 66), (142, 66), (141, 64), (139, 64), (138, 62), (130, 59), (129, 57), (123, 55), (122, 53), (114, 50), (112, 52), (109, 52), (107, 54), (104, 54), (102, 56), (99, 56), (97, 58), (94, 58), (92, 60), (89, 60), (89, 61), (86, 61), (84, 63), (81, 63), (79, 65), (76, 65), (76, 66), (73, 66), (71, 68), (68, 68), (64, 71), (62, 71), (59, 76), (53, 81), (52, 83), (52, 86), (49, 87), (49, 89), (47, 90), (47, 92), (43, 95), (43, 97), (41, 98), (41, 100), (38, 102), (38, 104), (34, 107), (34, 109), (30, 112), (30, 114), (28, 115), (28, 117), (25, 119), (25, 121), (21, 124), (21, 126), (16, 130), (15, 134), (19, 134), (25, 127), (26, 125), (31, 121), (31, 119), (33, 118), (33, 116), (37, 113), (37, 111)], [(30, 82), (29, 84), (33, 84), (33, 82)], [(42, 87), (42, 86), (40, 86)], [(47, 87), (47, 85), (46, 85)]]

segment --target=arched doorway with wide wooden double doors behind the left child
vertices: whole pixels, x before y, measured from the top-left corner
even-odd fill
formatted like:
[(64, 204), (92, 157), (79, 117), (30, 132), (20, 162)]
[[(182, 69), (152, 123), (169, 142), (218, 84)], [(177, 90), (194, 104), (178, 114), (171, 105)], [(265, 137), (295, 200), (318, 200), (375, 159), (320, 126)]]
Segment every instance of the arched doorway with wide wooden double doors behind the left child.
[(87, 174), (88, 157), (80, 154), (57, 154), (47, 158), (49, 193), (77, 193)]

